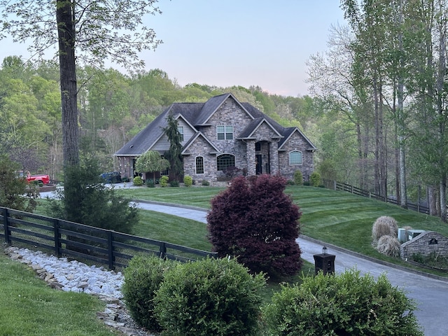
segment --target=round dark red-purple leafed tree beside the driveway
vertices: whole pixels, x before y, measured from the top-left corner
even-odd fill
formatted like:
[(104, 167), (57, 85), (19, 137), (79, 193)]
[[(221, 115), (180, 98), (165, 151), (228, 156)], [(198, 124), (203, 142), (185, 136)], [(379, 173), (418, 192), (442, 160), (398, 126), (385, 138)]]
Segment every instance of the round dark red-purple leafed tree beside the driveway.
[(297, 273), (302, 260), (295, 239), (302, 213), (285, 187), (286, 179), (280, 176), (241, 176), (211, 200), (209, 240), (219, 257), (237, 256), (254, 273)]

